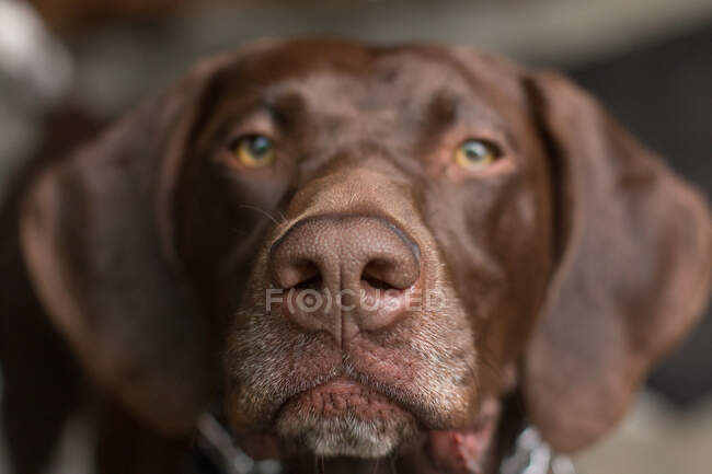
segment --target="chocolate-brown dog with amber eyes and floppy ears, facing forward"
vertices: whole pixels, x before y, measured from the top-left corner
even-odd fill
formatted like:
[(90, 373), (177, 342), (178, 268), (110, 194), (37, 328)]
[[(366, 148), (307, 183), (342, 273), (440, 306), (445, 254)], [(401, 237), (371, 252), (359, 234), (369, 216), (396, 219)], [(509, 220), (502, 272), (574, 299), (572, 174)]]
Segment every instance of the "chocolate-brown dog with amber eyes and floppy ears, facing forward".
[(102, 473), (185, 470), (218, 400), (289, 472), (494, 473), (527, 424), (606, 433), (709, 294), (704, 199), (567, 80), (469, 50), (260, 44), (48, 161), (3, 250), (25, 465), (85, 405), (51, 327), (110, 401)]

